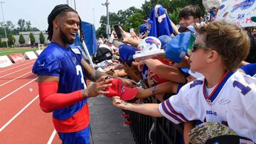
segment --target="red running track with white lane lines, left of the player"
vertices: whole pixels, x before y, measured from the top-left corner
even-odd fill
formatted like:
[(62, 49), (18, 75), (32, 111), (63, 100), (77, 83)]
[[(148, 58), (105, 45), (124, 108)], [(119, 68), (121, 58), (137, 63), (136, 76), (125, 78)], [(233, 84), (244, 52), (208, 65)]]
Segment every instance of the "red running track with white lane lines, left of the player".
[(0, 68), (0, 143), (60, 143), (51, 113), (39, 107), (35, 60)]

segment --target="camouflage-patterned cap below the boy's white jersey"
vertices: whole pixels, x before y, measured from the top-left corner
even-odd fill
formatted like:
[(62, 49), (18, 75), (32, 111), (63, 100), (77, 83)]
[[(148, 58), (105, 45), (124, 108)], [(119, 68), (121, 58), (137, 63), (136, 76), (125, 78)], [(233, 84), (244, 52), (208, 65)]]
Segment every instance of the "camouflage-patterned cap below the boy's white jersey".
[(220, 135), (237, 135), (237, 133), (221, 123), (206, 122), (193, 128), (188, 135), (190, 143), (199, 144)]

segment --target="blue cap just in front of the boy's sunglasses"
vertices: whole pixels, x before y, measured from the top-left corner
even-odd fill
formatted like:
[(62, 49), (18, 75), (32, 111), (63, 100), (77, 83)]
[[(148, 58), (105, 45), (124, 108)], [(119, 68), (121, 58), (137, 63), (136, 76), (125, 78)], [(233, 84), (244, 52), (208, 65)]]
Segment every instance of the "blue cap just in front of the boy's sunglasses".
[(165, 55), (170, 60), (179, 63), (188, 53), (193, 35), (190, 32), (180, 33), (166, 45)]

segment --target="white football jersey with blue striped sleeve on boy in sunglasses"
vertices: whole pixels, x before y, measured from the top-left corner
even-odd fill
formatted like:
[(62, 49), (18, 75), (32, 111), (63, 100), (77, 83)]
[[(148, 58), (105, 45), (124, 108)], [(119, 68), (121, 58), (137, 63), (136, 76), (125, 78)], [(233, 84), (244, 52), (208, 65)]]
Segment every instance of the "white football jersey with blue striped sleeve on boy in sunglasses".
[(226, 73), (207, 96), (201, 77), (159, 104), (159, 111), (176, 124), (193, 120), (228, 124), (238, 135), (256, 142), (256, 78)]

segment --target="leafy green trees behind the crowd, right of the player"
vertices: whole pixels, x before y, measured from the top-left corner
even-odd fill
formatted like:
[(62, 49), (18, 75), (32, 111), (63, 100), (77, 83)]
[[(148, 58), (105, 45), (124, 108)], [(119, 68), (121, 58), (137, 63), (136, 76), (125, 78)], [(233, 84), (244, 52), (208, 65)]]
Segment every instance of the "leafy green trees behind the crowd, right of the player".
[[(149, 18), (149, 13), (151, 9), (153, 9), (156, 4), (161, 4), (168, 11), (169, 18), (175, 24), (178, 24), (178, 13), (179, 11), (189, 4), (198, 5), (202, 10), (202, 15), (204, 11), (204, 7), (201, 0), (145, 0), (144, 4), (140, 9), (135, 8), (134, 6), (126, 9), (124, 11), (119, 10), (117, 13), (109, 12), (110, 16), (110, 26), (114, 24), (119, 24), (122, 26), (124, 31), (129, 31), (129, 28), (134, 28), (135, 32), (139, 32), (139, 26), (142, 24), (142, 20)], [(111, 4), (110, 4), (111, 6)], [(100, 18), (101, 26), (97, 29), (97, 35), (103, 35), (107, 38), (106, 35), (106, 23), (107, 16), (101, 16)]]

